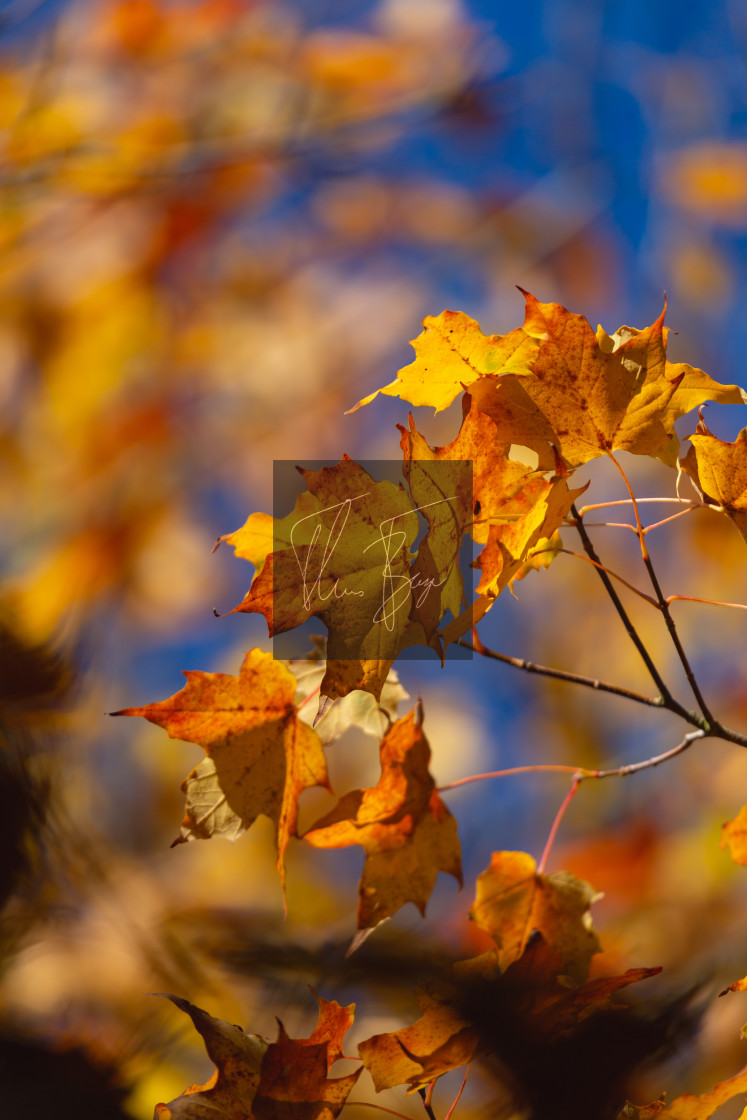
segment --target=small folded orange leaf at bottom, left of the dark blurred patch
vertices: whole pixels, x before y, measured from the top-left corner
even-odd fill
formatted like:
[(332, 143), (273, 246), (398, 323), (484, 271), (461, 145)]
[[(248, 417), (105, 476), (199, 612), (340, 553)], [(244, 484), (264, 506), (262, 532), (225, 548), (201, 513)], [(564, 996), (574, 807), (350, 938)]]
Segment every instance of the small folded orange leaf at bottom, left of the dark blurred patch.
[(477, 1029), (426, 991), (418, 992), (418, 1002), (423, 1014), (411, 1026), (372, 1035), (358, 1044), (377, 1093), (394, 1085), (420, 1089), (473, 1058)]

